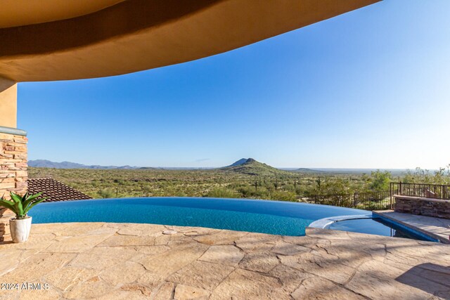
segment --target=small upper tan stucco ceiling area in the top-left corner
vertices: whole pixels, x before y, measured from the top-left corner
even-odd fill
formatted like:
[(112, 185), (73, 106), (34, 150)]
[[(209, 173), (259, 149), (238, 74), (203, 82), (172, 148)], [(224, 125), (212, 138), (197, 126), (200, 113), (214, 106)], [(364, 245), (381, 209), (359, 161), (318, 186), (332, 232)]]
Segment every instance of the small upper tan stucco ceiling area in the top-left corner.
[(75, 18), (124, 0), (1, 0), (0, 28)]

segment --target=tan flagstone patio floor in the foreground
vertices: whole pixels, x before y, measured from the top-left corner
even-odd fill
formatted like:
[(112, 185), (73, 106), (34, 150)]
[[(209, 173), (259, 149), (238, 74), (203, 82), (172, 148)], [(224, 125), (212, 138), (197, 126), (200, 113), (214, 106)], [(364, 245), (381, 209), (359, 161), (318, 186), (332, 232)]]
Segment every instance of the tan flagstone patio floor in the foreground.
[(0, 244), (0, 282), (19, 284), (0, 299), (450, 299), (449, 245), (171, 228), (33, 225), (28, 242)]

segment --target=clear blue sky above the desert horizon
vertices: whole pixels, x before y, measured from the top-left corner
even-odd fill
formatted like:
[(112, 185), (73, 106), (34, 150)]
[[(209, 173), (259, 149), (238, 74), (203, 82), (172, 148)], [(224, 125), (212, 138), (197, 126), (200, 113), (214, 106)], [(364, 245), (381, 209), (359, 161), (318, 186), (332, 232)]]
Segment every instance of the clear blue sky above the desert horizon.
[(450, 1), (385, 0), (228, 53), (19, 84), (29, 159), (218, 167), (450, 163)]

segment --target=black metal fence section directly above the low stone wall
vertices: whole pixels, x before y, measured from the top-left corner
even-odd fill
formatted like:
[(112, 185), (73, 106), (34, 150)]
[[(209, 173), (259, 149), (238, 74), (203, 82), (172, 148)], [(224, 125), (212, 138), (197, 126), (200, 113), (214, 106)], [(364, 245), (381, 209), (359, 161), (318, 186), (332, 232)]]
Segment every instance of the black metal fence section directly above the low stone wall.
[(395, 182), (391, 183), (390, 192), (392, 195), (450, 200), (450, 185)]

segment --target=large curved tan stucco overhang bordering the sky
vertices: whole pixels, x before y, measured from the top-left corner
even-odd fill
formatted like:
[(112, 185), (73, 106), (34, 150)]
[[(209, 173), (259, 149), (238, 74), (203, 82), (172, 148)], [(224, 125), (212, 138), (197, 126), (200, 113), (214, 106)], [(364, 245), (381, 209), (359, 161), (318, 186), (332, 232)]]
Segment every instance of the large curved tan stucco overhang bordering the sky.
[(82, 79), (184, 63), (377, 1), (128, 0), (76, 18), (0, 28), (0, 76)]

